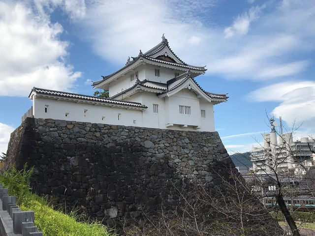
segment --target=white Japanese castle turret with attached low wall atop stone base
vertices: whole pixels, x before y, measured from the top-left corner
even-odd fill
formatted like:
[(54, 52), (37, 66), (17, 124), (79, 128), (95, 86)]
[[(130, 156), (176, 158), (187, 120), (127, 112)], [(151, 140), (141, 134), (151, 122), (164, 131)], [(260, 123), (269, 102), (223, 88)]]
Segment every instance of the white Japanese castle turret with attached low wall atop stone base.
[[(32, 109), (25, 116), (160, 129), (214, 131), (213, 106), (226, 94), (203, 90), (194, 80), (204, 66), (185, 63), (167, 39), (93, 83), (109, 98), (33, 88)], [(25, 117), (24, 116), (24, 117)], [(22, 118), (23, 119), (23, 118)]]

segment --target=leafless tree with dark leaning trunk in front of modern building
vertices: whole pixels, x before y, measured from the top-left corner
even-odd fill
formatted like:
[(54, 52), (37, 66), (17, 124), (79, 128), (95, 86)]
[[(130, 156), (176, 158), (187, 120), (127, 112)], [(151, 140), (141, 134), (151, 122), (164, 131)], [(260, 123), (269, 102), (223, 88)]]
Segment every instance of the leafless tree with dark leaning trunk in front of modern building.
[[(268, 118), (269, 119), (269, 118)], [(272, 119), (270, 119), (273, 121)], [(293, 212), (287, 208), (285, 204), (285, 197), (290, 197), (293, 199), (295, 196), (301, 195), (301, 190), (294, 189), (294, 191), (288, 192), (288, 186), (290, 185), (290, 182), (293, 181), (294, 179), (300, 178), (299, 181), (302, 180), (302, 176), (297, 176), (294, 173), (294, 169), (288, 169), (284, 168), (284, 163), (287, 162), (287, 164), (294, 164), (295, 166), (300, 166), (301, 168), (304, 169), (305, 172), (308, 172), (308, 168), (304, 165), (303, 160), (297, 158), (299, 155), (299, 151), (297, 146), (294, 145), (292, 141), (292, 134), (300, 127), (301, 125), (295, 126), (293, 124), (293, 128), (287, 132), (286, 138), (284, 135), (280, 135), (279, 132), (275, 129), (275, 126), (273, 126), (273, 122), (271, 122), (271, 130), (276, 134), (276, 137), (280, 137), (280, 142), (279, 143), (271, 143), (270, 140), (264, 140), (266, 142), (269, 142), (269, 147), (266, 148), (264, 145), (260, 145), (260, 149), (263, 151), (263, 155), (267, 158), (264, 160), (261, 160), (261, 162), (258, 163), (259, 165), (255, 166), (255, 170), (252, 169), (251, 171), (251, 176), (256, 180), (255, 186), (259, 186), (259, 188), (255, 189), (257, 196), (259, 196), (262, 199), (266, 198), (274, 198), (276, 205), (272, 210), (277, 211), (280, 209), (281, 213), (284, 216), (284, 219), (289, 226), (293, 236), (300, 236), (300, 233), (297, 229), (296, 223), (294, 219), (292, 218), (291, 213)], [(289, 135), (289, 137), (288, 137)], [(263, 136), (264, 139), (268, 136)], [(270, 137), (268, 137), (269, 139)], [(257, 142), (258, 143), (258, 142)], [(258, 143), (259, 144), (259, 143)], [(310, 144), (308, 144), (310, 150), (314, 153), (314, 149), (311, 148)], [(257, 163), (257, 162), (256, 162)], [(259, 174), (258, 174), (259, 173)], [(274, 189), (269, 189), (271, 191), (268, 191), (266, 189), (266, 183), (262, 181), (262, 175), (266, 177), (270, 177), (274, 179), (274, 184), (272, 185), (275, 187)], [(304, 179), (307, 178), (307, 176), (303, 177)], [(314, 181), (314, 179), (313, 179)], [(257, 191), (259, 190), (259, 191)], [(309, 189), (304, 189), (303, 193), (312, 193), (314, 189), (309, 188)], [(293, 201), (291, 200), (293, 205)]]

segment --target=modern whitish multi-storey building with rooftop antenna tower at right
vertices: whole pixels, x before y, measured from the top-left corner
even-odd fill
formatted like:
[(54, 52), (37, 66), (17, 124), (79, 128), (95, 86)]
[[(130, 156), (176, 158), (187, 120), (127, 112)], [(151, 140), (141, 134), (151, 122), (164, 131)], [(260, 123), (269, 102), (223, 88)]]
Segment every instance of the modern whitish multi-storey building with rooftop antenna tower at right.
[(252, 170), (258, 175), (272, 173), (270, 166), (277, 166), (278, 173), (304, 175), (315, 165), (315, 142), (309, 138), (293, 141), (292, 133), (277, 135), (275, 120), (270, 119), (271, 132), (264, 134), (264, 145), (251, 149)]

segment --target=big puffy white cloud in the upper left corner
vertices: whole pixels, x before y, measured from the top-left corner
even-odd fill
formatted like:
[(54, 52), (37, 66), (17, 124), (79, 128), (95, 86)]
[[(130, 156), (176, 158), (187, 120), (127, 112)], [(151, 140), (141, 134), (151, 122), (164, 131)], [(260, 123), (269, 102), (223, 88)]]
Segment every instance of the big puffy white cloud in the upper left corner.
[(25, 96), (33, 86), (69, 90), (80, 72), (65, 63), (68, 43), (22, 3), (0, 2), (0, 95)]

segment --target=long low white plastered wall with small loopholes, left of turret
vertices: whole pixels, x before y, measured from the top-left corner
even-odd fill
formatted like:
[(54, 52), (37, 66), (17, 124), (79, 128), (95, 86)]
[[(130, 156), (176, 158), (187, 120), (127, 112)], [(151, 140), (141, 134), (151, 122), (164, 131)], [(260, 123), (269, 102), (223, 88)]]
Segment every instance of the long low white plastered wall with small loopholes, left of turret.
[[(45, 113), (46, 105), (48, 105), (47, 113)], [(87, 111), (84, 112), (85, 110)], [(114, 108), (89, 103), (76, 103), (37, 97), (33, 102), (33, 112), (34, 118), (52, 118), (126, 126), (143, 126), (142, 111), (140, 110), (127, 110), (125, 108)], [(68, 115), (65, 116), (65, 113), (68, 113)], [(121, 114), (119, 119), (118, 114)]]

